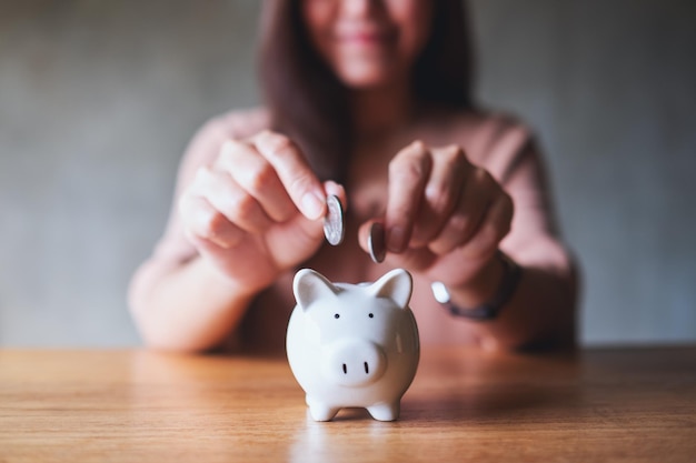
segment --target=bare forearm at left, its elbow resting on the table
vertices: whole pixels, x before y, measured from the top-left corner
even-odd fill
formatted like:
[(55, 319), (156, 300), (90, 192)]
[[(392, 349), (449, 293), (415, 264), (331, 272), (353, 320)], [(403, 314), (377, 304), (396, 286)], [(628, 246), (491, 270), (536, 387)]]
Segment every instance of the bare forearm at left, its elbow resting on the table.
[(170, 268), (146, 262), (133, 278), (129, 302), (147, 346), (200, 352), (237, 328), (253, 295), (195, 258)]

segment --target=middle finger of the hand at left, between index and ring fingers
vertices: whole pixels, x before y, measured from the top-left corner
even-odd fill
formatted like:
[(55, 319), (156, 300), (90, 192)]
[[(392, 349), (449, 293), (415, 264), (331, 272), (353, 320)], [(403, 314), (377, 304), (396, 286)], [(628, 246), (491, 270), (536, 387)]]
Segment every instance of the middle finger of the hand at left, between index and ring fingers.
[(285, 222), (296, 212), (274, 167), (247, 143), (233, 140), (225, 142), (216, 168), (228, 172), (239, 187), (258, 201), (271, 220)]

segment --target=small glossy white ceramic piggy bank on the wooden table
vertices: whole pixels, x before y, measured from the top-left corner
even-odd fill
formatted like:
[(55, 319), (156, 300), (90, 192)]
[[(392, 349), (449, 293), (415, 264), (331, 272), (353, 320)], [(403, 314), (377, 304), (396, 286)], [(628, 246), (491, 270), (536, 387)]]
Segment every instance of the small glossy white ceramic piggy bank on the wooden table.
[(329, 421), (342, 407), (365, 407), (380, 421), (399, 416), (420, 355), (408, 306), (411, 289), (402, 269), (372, 284), (331, 283), (314, 270), (297, 272), (288, 361), (316, 421)]

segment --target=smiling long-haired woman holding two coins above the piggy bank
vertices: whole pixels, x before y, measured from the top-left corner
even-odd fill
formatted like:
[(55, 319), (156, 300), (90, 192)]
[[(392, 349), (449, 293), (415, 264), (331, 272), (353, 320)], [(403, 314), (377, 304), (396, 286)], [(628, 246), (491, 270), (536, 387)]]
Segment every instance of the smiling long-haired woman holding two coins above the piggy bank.
[[(474, 107), (464, 13), (456, 0), (266, 2), (267, 105), (201, 129), (131, 283), (148, 345), (281, 352), (300, 266), (345, 282), (406, 268), (424, 343), (573, 342), (575, 273), (541, 161), (523, 125)], [(324, 240), (329, 194), (347, 208), (339, 246)], [(376, 221), (382, 264), (366, 252)], [(470, 316), (481, 305), (487, 320)]]

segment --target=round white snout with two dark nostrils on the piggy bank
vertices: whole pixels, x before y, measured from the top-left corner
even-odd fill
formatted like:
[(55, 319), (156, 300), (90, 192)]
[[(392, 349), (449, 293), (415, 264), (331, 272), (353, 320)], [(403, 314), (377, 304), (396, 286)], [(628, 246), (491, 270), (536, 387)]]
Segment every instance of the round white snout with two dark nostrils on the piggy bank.
[(324, 371), (336, 384), (367, 385), (381, 378), (387, 368), (384, 350), (370, 341), (340, 340), (324, 349)]

